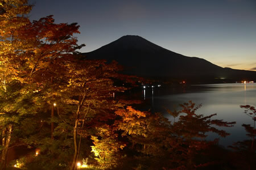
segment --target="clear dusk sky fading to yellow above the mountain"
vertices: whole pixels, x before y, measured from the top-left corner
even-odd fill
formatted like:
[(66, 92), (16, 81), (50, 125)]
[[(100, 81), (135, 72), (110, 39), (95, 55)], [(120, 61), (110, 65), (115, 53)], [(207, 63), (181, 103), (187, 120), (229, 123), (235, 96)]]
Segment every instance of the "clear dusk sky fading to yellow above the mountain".
[(79, 23), (81, 52), (139, 35), (185, 56), (256, 70), (255, 0), (29, 0), (31, 20)]

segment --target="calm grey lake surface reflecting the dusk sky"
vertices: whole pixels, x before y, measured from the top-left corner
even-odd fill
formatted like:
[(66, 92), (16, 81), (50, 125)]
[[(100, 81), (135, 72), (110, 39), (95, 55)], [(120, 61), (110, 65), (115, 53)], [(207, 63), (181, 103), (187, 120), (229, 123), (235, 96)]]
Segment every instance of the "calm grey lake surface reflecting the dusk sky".
[[(179, 104), (187, 103), (192, 100), (193, 103), (202, 104), (202, 107), (196, 113), (209, 114), (217, 113), (213, 119), (221, 119), (228, 122), (236, 121), (232, 128), (218, 128), (231, 133), (226, 138), (220, 138), (219, 144), (222, 146), (232, 145), (233, 142), (249, 139), (246, 137), (246, 131), (242, 124), (253, 126), (251, 117), (244, 113), (240, 105), (256, 106), (256, 83), (227, 83), (227, 84), (204, 84), (195, 86), (183, 86), (175, 88), (146, 88), (142, 90), (142, 99), (148, 104), (147, 107), (154, 112), (161, 112), (172, 122), (174, 118), (166, 112), (165, 108), (170, 110), (180, 109)], [(176, 118), (177, 119), (177, 118)], [(207, 139), (218, 138), (217, 135), (209, 133)]]

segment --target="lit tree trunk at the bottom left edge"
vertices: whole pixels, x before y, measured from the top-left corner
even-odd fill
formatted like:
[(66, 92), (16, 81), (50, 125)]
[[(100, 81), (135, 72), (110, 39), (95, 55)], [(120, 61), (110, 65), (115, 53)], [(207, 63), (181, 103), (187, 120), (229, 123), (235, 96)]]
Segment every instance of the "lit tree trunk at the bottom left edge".
[(3, 139), (2, 139), (2, 145), (3, 145), (3, 150), (2, 150), (2, 160), (1, 160), (1, 169), (6, 169), (6, 161), (7, 161), (7, 154), (8, 154), (8, 148), (10, 146), (10, 141), (11, 141), (11, 132), (13, 131), (13, 125), (9, 125), (8, 128), (5, 128), (2, 132)]

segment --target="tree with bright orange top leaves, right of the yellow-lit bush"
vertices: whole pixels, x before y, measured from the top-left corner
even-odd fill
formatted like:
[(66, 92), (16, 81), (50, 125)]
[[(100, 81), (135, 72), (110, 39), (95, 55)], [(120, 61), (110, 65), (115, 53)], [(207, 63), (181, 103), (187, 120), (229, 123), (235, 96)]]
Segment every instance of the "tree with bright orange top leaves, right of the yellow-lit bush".
[(146, 169), (170, 167), (169, 154), (175, 155), (174, 148), (179, 144), (167, 118), (161, 113), (141, 112), (129, 106), (115, 113), (120, 117), (115, 125), (122, 131), (122, 137), (127, 138), (130, 143), (127, 144), (128, 150), (137, 155), (136, 159), (134, 155), (130, 155), (129, 159), (133, 164), (126, 164)]

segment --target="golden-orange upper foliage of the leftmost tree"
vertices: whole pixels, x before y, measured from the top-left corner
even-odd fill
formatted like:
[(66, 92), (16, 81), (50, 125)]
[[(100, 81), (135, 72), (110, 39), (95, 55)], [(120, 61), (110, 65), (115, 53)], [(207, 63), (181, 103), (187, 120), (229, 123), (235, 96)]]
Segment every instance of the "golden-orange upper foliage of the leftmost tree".
[(20, 34), (24, 25), (29, 24), (30, 21), (22, 14), (27, 14), (31, 6), (27, 5), (25, 0), (1, 2), (5, 13), (0, 15), (0, 79), (5, 80), (6, 83), (14, 79), (23, 82), (20, 74), (26, 71), (22, 70), (24, 68), (22, 64), (25, 65), (22, 54), (27, 50), (27, 46), (23, 45)]

